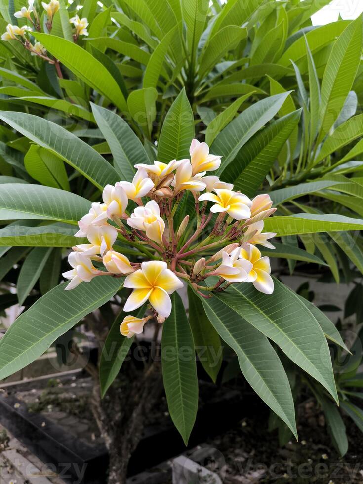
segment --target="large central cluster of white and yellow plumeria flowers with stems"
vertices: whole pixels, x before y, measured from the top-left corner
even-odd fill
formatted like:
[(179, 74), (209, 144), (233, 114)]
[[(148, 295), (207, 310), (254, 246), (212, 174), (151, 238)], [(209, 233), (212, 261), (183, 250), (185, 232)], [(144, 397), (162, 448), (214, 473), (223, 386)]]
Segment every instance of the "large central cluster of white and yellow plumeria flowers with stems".
[[(132, 182), (107, 185), (103, 203), (92, 203), (79, 221), (75, 235), (89, 243), (76, 245), (69, 255), (73, 269), (63, 274), (71, 279), (66, 289), (96, 276), (125, 277), (123, 286), (133, 290), (124, 311), (149, 301), (159, 322), (170, 315), (170, 294), (183, 287), (183, 279), (205, 298), (236, 282), (271, 294), (270, 261), (256, 245), (274, 248), (268, 239), (276, 234), (264, 233), (263, 225), (275, 208), (267, 194), (250, 200), (232, 184), (206, 176), (220, 164), (220, 156), (194, 139), (189, 159), (139, 163)], [(195, 216), (183, 218), (189, 202)], [(135, 261), (122, 254), (132, 253), (130, 247), (136, 249)], [(121, 333), (141, 333), (150, 318), (127, 316)]]

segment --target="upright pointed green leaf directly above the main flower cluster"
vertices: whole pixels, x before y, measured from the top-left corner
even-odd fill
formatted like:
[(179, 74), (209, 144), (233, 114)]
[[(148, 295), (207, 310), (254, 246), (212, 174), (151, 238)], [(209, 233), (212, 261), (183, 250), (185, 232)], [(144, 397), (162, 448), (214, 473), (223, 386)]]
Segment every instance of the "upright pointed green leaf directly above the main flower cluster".
[(188, 158), (193, 138), (193, 112), (183, 88), (165, 116), (158, 142), (158, 161), (168, 163)]

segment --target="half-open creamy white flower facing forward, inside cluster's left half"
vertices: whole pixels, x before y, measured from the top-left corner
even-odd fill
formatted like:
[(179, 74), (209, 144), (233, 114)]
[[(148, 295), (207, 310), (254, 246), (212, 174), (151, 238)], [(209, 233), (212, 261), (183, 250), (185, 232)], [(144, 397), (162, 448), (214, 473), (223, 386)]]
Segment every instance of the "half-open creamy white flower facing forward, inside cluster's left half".
[(165, 222), (160, 216), (160, 208), (155, 200), (150, 200), (144, 207), (136, 207), (127, 223), (134, 229), (145, 230), (147, 237), (152, 241), (162, 242)]

